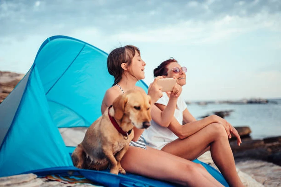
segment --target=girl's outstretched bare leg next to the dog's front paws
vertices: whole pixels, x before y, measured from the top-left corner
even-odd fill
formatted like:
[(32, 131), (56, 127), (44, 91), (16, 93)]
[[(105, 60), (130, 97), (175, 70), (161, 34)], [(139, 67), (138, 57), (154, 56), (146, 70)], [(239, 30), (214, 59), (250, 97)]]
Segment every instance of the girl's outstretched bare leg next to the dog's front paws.
[(122, 167), (130, 172), (184, 186), (222, 186), (199, 164), (165, 153), (130, 146), (121, 160)]

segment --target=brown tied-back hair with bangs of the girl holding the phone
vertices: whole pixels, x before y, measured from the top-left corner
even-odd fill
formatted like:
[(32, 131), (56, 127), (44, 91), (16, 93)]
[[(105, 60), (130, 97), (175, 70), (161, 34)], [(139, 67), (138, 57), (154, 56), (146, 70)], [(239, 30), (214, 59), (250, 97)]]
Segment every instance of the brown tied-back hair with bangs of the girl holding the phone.
[(114, 76), (114, 84), (112, 86), (117, 84), (122, 78), (124, 70), (121, 64), (126, 63), (130, 66), (136, 51), (141, 55), (140, 50), (136, 46), (127, 45), (116, 48), (109, 53), (107, 57), (107, 70), (109, 74)]

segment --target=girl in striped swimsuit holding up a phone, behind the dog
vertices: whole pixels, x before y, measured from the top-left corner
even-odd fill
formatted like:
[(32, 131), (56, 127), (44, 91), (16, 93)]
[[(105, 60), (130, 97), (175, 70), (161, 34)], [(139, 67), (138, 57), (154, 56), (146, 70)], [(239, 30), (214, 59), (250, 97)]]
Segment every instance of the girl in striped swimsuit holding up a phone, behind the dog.
[[(107, 58), (108, 72), (114, 76), (113, 86), (106, 91), (102, 101), (101, 112), (109, 107), (118, 95), (130, 89), (140, 89), (135, 84), (144, 79), (145, 62), (141, 59), (140, 51), (135, 46), (125, 46), (113, 50)], [(161, 96), (161, 88), (156, 82), (157, 77), (148, 89), (148, 94), (155, 103)], [(175, 86), (170, 93), (170, 100), (165, 110), (161, 112), (154, 104), (153, 115), (161, 124), (169, 124), (173, 114), (169, 111), (175, 108), (180, 86)], [(205, 168), (184, 158), (146, 147), (142, 137), (143, 130), (134, 128), (134, 142), (121, 160), (122, 167), (127, 171), (155, 179), (166, 180), (184, 186), (222, 186)], [(227, 184), (226, 184), (227, 185)]]

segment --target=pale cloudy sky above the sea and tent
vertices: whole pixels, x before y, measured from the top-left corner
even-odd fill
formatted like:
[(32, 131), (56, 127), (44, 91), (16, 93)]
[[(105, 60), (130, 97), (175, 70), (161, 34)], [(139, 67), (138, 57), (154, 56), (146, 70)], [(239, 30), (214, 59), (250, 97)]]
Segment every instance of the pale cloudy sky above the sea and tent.
[(281, 1), (0, 0), (0, 70), (27, 73), (50, 36), (109, 53), (135, 45), (153, 69), (187, 67), (186, 101), (281, 98)]

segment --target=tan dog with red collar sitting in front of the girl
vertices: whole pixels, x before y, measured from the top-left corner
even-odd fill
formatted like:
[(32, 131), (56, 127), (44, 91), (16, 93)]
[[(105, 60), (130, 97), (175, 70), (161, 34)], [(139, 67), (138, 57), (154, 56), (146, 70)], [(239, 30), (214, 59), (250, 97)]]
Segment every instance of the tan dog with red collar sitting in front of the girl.
[[(134, 137), (133, 127), (150, 126), (151, 98), (145, 92), (130, 90), (113, 102), (101, 117), (88, 128), (84, 140), (78, 144), (71, 158), (74, 166), (126, 174), (120, 160)], [(116, 127), (114, 121), (116, 120)]]

